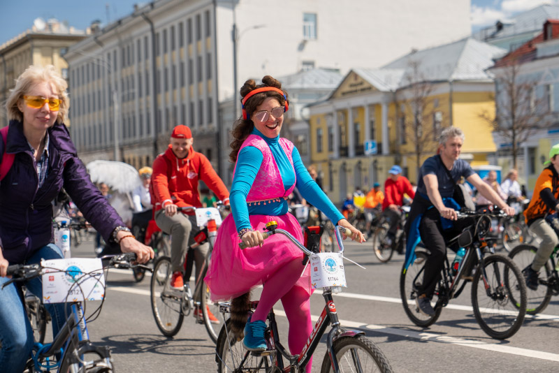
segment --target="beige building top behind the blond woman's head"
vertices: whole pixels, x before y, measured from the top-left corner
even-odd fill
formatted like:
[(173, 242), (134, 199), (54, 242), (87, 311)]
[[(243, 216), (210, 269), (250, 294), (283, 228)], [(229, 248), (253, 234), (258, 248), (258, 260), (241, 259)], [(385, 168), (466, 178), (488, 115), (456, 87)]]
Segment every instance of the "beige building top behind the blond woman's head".
[[(57, 20), (37, 18), (31, 29), (0, 45), (0, 101), (5, 102), (15, 79), (30, 65), (54, 65), (68, 79), (68, 64), (63, 56), (68, 47), (85, 38), (85, 31), (67, 27)], [(4, 126), (6, 109), (0, 108)]]

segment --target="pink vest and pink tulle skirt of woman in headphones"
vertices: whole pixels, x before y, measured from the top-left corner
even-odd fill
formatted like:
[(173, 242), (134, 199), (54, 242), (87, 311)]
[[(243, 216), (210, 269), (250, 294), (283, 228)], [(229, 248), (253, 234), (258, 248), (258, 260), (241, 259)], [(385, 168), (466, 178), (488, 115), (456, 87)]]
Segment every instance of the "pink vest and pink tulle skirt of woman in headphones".
[[(293, 143), (280, 138), (279, 144), (293, 166), (291, 158)], [(266, 142), (259, 136), (251, 135), (243, 142), (242, 147), (245, 146), (257, 147), (263, 154), (263, 161), (247, 196), (247, 203), (289, 196), (295, 184), (287, 191), (284, 190), (279, 168)], [(256, 231), (263, 231), (269, 221), (277, 221), (278, 228), (288, 231), (299, 242), (303, 242), (301, 226), (292, 214), (251, 215), (249, 220)], [(208, 273), (204, 279), (210, 287), (212, 300), (228, 300), (238, 297), (265, 283), (268, 277), (293, 259), (303, 260), (304, 254), (284, 235), (270, 236), (264, 241), (262, 247), (249, 247), (242, 250), (239, 247), (240, 242), (235, 221), (232, 214), (229, 214), (217, 231)], [(303, 265), (301, 265), (301, 272), (303, 272)], [(305, 269), (305, 273), (298, 279), (295, 286), (304, 288), (309, 294), (312, 293), (310, 268)]]

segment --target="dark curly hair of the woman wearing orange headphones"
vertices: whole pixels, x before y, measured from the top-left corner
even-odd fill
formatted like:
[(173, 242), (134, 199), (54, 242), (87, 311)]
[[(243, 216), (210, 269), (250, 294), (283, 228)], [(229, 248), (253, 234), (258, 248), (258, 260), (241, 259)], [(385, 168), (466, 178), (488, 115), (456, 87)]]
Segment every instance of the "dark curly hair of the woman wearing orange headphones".
[[(266, 75), (264, 78), (262, 78), (261, 85), (256, 85), (256, 82), (254, 82), (254, 80), (249, 79), (245, 82), (244, 85), (242, 85), (240, 89), (241, 101), (242, 98), (245, 98), (245, 96), (254, 91), (254, 89), (262, 87), (275, 87), (278, 89), (282, 89), (282, 83), (280, 83), (278, 80), (275, 80), (270, 75)], [(287, 97), (287, 92), (283, 92), (285, 94), (285, 97)], [(251, 96), (245, 103), (245, 110), (249, 117), (252, 117), (252, 113), (254, 112), (254, 110), (256, 110), (256, 107), (261, 105), (268, 97), (276, 98), (281, 105), (285, 105), (287, 101), (282, 94), (279, 94), (279, 92), (266, 91), (257, 93), (254, 96)], [(287, 102), (289, 103), (289, 101)], [(233, 137), (233, 141), (231, 142), (231, 153), (229, 153), (229, 159), (231, 160), (231, 162), (235, 163), (237, 161), (237, 155), (239, 154), (239, 149), (242, 145), (242, 142), (246, 140), (253, 129), (254, 122), (252, 122), (252, 119), (243, 119), (243, 117), (241, 116), (240, 118), (235, 120), (235, 123), (233, 124), (233, 131), (231, 131), (231, 136)]]

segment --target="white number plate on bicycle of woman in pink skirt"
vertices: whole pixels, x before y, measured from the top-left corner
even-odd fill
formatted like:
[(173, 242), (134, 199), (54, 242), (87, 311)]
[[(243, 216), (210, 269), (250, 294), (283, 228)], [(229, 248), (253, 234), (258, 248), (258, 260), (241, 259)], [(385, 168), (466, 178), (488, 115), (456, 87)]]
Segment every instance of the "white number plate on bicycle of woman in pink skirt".
[(310, 284), (312, 288), (347, 287), (344, 263), (340, 253), (318, 253), (310, 256)]

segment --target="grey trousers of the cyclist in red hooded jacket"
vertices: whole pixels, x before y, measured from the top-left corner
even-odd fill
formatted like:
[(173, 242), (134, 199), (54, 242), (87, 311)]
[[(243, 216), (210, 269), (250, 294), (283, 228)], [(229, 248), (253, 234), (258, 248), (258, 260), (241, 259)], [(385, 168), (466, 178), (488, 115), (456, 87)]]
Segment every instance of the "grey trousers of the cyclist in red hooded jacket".
[[(194, 244), (194, 235), (200, 231), (196, 226), (194, 215), (185, 215), (177, 212), (172, 217), (161, 209), (155, 214), (157, 226), (170, 235), (170, 265), (173, 272), (184, 272), (184, 258), (189, 245)], [(208, 254), (210, 244), (206, 242), (194, 250), (194, 263), (196, 263), (196, 280), (204, 265), (205, 256)]]

